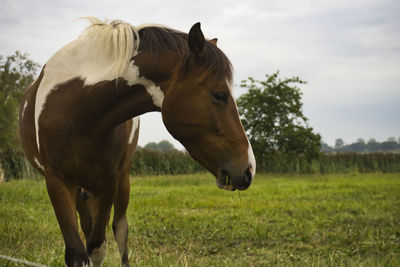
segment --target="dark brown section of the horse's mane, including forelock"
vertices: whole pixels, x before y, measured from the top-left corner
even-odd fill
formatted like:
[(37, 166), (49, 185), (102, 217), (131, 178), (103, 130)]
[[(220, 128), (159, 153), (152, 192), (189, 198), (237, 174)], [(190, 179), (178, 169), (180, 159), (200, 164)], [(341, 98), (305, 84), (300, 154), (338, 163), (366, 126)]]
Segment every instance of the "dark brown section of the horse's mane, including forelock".
[[(136, 28), (140, 36), (139, 51), (150, 50), (154, 54), (173, 52), (186, 60), (190, 55), (188, 34), (161, 25), (144, 25)], [(232, 64), (215, 45), (205, 43), (205, 63), (200, 80), (226, 80), (232, 82)]]

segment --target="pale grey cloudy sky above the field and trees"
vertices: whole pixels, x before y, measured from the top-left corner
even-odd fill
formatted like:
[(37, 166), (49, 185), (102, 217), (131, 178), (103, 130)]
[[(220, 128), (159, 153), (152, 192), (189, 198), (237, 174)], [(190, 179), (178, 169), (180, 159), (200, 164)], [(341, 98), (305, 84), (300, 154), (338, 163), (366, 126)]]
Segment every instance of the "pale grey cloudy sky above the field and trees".
[[(76, 39), (80, 17), (158, 23), (189, 31), (196, 23), (240, 81), (280, 71), (298, 76), (303, 112), (324, 142), (400, 137), (400, 1), (398, 0), (0, 0), (0, 55), (27, 52), (41, 65)], [(169, 140), (160, 113), (141, 116), (139, 144)]]

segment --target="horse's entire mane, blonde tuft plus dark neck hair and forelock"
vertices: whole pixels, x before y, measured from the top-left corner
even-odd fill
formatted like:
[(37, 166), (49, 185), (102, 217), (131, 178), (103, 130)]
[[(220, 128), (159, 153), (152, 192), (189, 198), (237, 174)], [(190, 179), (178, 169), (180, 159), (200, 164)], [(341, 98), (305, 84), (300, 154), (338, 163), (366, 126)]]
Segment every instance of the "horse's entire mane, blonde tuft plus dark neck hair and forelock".
[[(114, 62), (113, 71), (118, 76), (125, 72), (137, 51), (148, 50), (158, 55), (170, 51), (183, 60), (190, 55), (187, 33), (156, 24), (134, 27), (120, 20), (107, 22), (95, 17), (83, 19), (88, 20), (91, 25), (82, 35), (100, 38), (99, 56), (107, 56)], [(231, 83), (232, 65), (229, 59), (218, 47), (209, 42), (205, 43), (205, 50), (205, 63), (199, 79), (226, 80)]]

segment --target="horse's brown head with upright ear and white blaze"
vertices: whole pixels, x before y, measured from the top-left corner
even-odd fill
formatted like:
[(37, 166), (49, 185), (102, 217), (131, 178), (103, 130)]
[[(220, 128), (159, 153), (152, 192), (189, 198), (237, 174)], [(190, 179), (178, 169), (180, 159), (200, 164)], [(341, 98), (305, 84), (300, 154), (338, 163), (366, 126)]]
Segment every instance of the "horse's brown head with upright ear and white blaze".
[(219, 188), (245, 190), (256, 162), (232, 96), (230, 62), (215, 40), (204, 39), (200, 23), (190, 30), (188, 45), (165, 93), (164, 124), (216, 176)]

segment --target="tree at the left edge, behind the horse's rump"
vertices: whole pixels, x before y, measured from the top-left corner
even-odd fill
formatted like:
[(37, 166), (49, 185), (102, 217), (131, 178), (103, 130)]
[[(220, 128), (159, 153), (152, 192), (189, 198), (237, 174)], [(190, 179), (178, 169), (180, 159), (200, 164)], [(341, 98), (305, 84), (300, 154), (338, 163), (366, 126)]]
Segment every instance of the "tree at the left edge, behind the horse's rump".
[(25, 53), (16, 51), (6, 59), (0, 55), (0, 152), (16, 147), (21, 97), (38, 69)]

